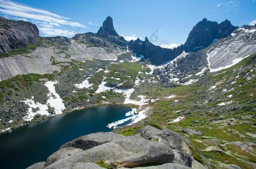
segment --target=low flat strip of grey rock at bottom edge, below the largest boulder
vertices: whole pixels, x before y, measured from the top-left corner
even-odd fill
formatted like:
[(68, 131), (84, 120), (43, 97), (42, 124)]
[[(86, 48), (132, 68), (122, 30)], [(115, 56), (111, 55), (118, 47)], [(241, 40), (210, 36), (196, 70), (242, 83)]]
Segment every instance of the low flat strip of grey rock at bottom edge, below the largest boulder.
[(45, 167), (44, 169), (104, 169), (98, 166), (95, 163), (61, 163), (61, 164), (53, 164)]

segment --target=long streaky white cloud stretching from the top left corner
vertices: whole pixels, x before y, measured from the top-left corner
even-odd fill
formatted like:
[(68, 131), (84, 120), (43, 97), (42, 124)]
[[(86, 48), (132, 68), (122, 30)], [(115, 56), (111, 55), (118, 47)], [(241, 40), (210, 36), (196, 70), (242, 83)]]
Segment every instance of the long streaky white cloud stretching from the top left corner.
[(63, 17), (47, 10), (32, 8), (23, 4), (14, 3), (12, 1), (0, 0), (0, 12), (16, 17), (32, 19), (36, 21), (43, 21), (59, 25), (69, 25), (73, 27), (86, 28), (81, 23), (68, 21), (67, 17)]

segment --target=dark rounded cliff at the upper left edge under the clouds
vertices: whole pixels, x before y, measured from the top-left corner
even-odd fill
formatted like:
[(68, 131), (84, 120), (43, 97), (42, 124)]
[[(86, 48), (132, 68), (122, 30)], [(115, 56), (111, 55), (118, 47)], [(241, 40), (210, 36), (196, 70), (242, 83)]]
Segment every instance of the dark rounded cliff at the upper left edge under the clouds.
[(0, 17), (0, 53), (8, 53), (10, 49), (25, 47), (38, 41), (39, 30), (36, 25)]

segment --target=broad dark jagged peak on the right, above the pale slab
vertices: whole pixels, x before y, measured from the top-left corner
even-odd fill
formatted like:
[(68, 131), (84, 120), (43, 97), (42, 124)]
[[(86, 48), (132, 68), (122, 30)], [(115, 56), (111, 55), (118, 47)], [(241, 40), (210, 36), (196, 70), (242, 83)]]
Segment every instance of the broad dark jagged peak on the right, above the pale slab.
[(238, 27), (233, 26), (228, 20), (218, 24), (204, 18), (193, 27), (184, 45), (189, 51), (199, 50), (214, 43), (217, 39), (227, 37), (236, 28)]

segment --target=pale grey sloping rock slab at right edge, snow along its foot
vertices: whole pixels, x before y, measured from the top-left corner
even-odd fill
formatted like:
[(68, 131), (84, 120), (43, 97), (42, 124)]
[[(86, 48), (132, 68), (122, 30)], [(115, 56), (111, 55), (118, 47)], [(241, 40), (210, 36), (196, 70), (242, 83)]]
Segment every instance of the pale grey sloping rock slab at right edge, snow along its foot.
[(245, 25), (219, 40), (207, 51), (211, 71), (232, 66), (256, 52), (256, 26)]

